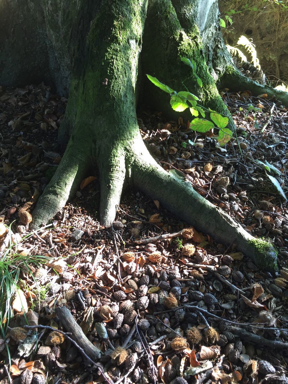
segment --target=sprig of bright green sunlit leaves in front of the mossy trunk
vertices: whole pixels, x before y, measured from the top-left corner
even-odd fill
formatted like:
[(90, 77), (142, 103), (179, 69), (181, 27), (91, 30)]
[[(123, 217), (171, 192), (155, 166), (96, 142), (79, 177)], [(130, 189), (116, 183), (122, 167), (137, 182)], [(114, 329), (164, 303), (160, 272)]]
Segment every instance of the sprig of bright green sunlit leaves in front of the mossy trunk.
[[(202, 88), (202, 81), (196, 74), (196, 63), (193, 60), (189, 60), (181, 56), (180, 59), (184, 64), (188, 65), (192, 69), (194, 78), (196, 79), (200, 88)], [(227, 116), (222, 116), (221, 114), (209, 108), (210, 119), (212, 121), (206, 120), (204, 119), (204, 108), (197, 104), (197, 101), (199, 101), (197, 96), (190, 93), (189, 91), (174, 91), (174, 89), (170, 88), (166, 84), (161, 83), (161, 81), (159, 81), (156, 77), (153, 77), (149, 74), (146, 74), (146, 76), (154, 85), (156, 85), (162, 91), (170, 94), (170, 105), (174, 111), (182, 112), (189, 108), (190, 113), (192, 116), (194, 116), (194, 119), (190, 122), (190, 129), (192, 129), (192, 131), (204, 133), (210, 131), (213, 128), (217, 128), (219, 130), (217, 140), (220, 146), (227, 144), (227, 142), (233, 137), (232, 131), (226, 127), (229, 122)], [(199, 113), (203, 119), (198, 118)]]

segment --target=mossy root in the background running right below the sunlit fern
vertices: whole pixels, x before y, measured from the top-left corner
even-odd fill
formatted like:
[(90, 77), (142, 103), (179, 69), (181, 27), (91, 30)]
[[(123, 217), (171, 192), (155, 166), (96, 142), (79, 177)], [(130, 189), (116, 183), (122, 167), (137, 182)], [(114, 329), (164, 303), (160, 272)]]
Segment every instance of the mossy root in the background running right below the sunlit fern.
[(269, 98), (276, 97), (281, 101), (283, 106), (288, 106), (288, 92), (279, 91), (278, 89), (260, 85), (244, 76), (233, 65), (227, 66), (225, 73), (219, 79), (218, 88), (228, 88), (231, 91), (246, 91), (249, 90), (253, 96), (267, 94)]

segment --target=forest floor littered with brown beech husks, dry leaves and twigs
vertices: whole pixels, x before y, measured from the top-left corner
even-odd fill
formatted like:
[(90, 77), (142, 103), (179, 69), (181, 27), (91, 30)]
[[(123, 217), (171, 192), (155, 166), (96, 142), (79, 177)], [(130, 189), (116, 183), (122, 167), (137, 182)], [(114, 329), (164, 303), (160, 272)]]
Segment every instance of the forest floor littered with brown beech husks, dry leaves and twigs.
[[(265, 95), (223, 98), (238, 135), (225, 148), (146, 108), (139, 128), (164, 169), (270, 239), (275, 275), (136, 190), (123, 194), (113, 227), (101, 227), (93, 174), (51, 226), (31, 233), (27, 203), (61, 160), (67, 100), (43, 84), (0, 88), (1, 384), (288, 383), (288, 113)], [(97, 366), (80, 351), (76, 322), (99, 350)]]

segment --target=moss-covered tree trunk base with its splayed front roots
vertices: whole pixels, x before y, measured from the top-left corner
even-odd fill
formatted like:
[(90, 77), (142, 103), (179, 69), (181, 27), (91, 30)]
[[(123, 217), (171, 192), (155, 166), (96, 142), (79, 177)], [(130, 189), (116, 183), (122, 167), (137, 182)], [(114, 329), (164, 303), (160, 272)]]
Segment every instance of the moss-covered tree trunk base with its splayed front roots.
[[(24, 2), (23, 25), (28, 22), (35, 2)], [(51, 220), (73, 196), (81, 180), (94, 172), (100, 176), (99, 212), (103, 225), (113, 222), (124, 181), (127, 181), (187, 223), (210, 233), (219, 242), (234, 243), (264, 268), (275, 269), (273, 247), (255, 241), (225, 212), (195, 192), (190, 183), (164, 171), (147, 151), (138, 129), (136, 95), (143, 84), (143, 94), (153, 99), (154, 108), (167, 116), (171, 114), (167, 94), (157, 93), (145, 80), (144, 73), (156, 76), (177, 91), (185, 90), (185, 86), (199, 96), (205, 108), (227, 114), (216, 84), (232, 66), (232, 61), (221, 37), (216, 2), (106, 0), (92, 3), (42, 0), (34, 8), (33, 31), (39, 31), (39, 44), (47, 47), (34, 68), (39, 76), (44, 76), (40, 68), (44, 71), (48, 66), (48, 78), (54, 80), (58, 91), (65, 93), (69, 89), (69, 99), (59, 135), (62, 143), (68, 142), (67, 148), (36, 204), (33, 228)], [(23, 7), (20, 0), (4, 0), (2, 4)], [(12, 35), (17, 22), (13, 18), (6, 20)], [(32, 44), (30, 40), (27, 46)], [(11, 63), (13, 55), (7, 41), (2, 42), (1, 75), (3, 83), (8, 84), (6, 65)], [(10, 61), (5, 61), (5, 52), (9, 53)], [(196, 62), (203, 88), (199, 88), (179, 56)], [(25, 60), (27, 67), (33, 64), (33, 57), (31, 61)], [(138, 73), (139, 61), (143, 73)], [(18, 67), (13, 70), (17, 72)], [(20, 81), (16, 75), (12, 76), (11, 84)], [(25, 78), (25, 81), (28, 80)], [(230, 127), (233, 128), (232, 120)]]

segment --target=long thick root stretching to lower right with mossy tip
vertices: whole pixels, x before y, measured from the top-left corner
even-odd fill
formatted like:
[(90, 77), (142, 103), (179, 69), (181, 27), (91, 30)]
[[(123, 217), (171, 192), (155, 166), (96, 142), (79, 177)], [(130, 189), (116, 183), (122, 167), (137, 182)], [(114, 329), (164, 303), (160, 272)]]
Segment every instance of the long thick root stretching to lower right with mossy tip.
[(199, 195), (190, 182), (163, 170), (144, 151), (135, 160), (133, 181), (153, 200), (159, 200), (163, 207), (198, 230), (221, 243), (235, 245), (265, 270), (277, 269), (277, 252), (270, 243), (252, 237), (226, 212)]

